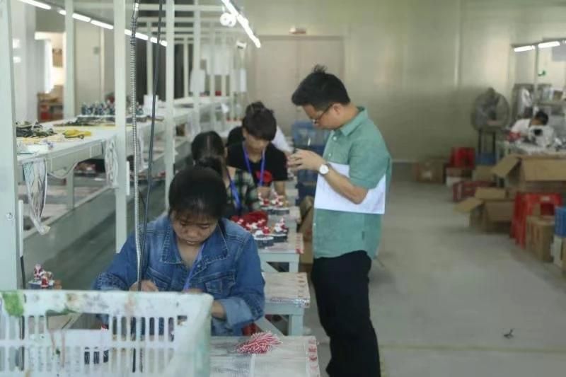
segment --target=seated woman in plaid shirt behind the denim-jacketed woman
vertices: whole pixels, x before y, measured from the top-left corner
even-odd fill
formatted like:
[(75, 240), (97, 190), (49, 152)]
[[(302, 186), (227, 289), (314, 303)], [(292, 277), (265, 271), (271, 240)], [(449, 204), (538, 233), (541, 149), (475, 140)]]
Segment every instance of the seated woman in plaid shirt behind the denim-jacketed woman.
[(252, 176), (246, 170), (226, 166), (227, 152), (219, 134), (214, 131), (198, 134), (192, 141), (191, 151), (195, 164), (222, 173), (228, 192), (226, 218), (260, 210), (258, 189)]

